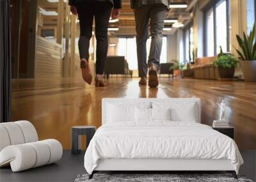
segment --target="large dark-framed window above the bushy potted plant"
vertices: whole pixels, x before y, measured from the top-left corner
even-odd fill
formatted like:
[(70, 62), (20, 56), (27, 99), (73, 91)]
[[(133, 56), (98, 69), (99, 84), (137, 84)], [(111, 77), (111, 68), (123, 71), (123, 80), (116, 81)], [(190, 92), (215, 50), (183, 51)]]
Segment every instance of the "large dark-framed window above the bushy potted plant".
[(214, 56), (220, 52), (230, 51), (230, 0), (213, 1), (205, 10), (204, 55)]

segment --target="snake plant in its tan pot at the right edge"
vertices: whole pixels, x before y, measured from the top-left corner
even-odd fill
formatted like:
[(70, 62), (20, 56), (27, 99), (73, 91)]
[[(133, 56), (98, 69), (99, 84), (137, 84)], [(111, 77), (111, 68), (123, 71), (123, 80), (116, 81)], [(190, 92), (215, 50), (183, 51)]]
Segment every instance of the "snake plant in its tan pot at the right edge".
[(254, 24), (249, 36), (243, 33), (243, 38), (236, 35), (237, 42), (241, 51), (237, 53), (241, 59), (241, 66), (243, 70), (244, 80), (246, 82), (256, 82), (256, 26)]

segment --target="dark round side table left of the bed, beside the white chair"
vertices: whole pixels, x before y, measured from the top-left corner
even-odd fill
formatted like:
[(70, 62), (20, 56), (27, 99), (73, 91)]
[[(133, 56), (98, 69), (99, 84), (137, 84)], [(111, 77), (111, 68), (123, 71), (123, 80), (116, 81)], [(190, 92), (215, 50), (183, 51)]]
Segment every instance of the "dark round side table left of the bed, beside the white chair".
[(81, 152), (81, 135), (86, 135), (86, 148), (96, 131), (95, 126), (72, 126), (72, 154)]

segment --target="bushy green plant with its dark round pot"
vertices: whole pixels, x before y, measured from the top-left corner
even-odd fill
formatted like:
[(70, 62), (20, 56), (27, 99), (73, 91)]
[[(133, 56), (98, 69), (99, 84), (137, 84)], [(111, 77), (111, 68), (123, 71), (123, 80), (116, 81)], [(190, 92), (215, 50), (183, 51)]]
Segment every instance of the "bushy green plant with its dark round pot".
[(231, 79), (234, 77), (238, 61), (232, 54), (224, 54), (220, 47), (220, 54), (218, 54), (218, 58), (213, 64), (218, 68), (218, 73), (221, 79)]

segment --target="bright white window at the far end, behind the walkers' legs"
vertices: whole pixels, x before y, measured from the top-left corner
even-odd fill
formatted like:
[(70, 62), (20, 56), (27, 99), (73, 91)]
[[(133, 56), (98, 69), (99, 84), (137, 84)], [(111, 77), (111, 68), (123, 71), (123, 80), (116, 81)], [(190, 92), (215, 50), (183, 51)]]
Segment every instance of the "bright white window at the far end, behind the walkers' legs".
[[(147, 57), (150, 50), (151, 37), (147, 40)], [(129, 69), (138, 70), (136, 38), (118, 38), (117, 45), (118, 56), (125, 56)], [(161, 50), (160, 63), (167, 62), (167, 38), (163, 36), (163, 45)]]

